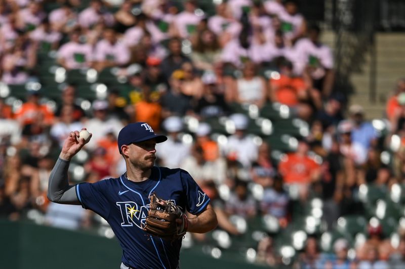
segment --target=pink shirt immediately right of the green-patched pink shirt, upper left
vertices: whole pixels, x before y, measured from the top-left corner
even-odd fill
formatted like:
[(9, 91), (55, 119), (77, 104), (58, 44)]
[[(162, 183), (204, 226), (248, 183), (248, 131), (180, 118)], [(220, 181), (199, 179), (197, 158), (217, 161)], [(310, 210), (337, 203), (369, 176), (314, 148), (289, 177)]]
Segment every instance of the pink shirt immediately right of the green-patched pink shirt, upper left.
[(98, 41), (94, 52), (95, 61), (114, 61), (118, 65), (124, 65), (130, 60), (130, 52), (127, 47), (121, 42), (115, 42), (111, 44), (107, 40), (103, 39)]

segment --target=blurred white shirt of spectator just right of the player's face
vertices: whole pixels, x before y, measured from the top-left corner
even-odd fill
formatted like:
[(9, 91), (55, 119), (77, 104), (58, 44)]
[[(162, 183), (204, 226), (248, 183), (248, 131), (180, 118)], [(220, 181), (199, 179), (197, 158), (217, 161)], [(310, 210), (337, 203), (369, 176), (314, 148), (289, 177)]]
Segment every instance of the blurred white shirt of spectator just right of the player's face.
[(165, 143), (156, 144), (156, 156), (161, 159), (163, 166), (169, 168), (180, 167), (183, 160), (190, 153), (190, 145), (181, 141), (174, 141), (168, 137)]

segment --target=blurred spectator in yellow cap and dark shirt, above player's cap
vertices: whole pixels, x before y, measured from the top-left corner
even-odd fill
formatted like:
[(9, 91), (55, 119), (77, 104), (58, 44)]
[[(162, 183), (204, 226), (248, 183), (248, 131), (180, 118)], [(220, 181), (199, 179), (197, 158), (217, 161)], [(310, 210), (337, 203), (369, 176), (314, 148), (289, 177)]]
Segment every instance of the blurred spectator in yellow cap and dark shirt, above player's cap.
[(191, 111), (189, 98), (181, 91), (183, 80), (184, 71), (182, 70), (176, 70), (171, 75), (170, 90), (161, 97), (163, 117), (182, 116)]

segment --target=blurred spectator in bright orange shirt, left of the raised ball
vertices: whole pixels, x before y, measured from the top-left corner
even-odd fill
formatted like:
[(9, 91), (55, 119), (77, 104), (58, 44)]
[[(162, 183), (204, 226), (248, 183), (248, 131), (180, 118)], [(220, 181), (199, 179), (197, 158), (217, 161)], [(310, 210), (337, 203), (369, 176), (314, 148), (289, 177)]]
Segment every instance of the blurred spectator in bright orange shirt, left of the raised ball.
[[(46, 104), (41, 104), (38, 91), (29, 91), (27, 101), (16, 110), (15, 118), (22, 126), (32, 123), (49, 126), (54, 122), (54, 113)], [(37, 119), (42, 121), (35, 122)]]

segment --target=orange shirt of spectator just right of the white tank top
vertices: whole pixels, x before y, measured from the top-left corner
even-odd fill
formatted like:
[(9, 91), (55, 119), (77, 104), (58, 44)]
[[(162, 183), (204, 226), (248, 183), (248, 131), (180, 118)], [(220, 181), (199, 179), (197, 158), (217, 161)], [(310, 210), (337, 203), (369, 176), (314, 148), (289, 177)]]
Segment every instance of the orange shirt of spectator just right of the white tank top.
[(279, 79), (270, 80), (271, 89), (275, 100), (288, 106), (296, 106), (299, 103), (299, 96), (305, 94), (308, 86), (301, 77), (290, 77), (280, 75)]

